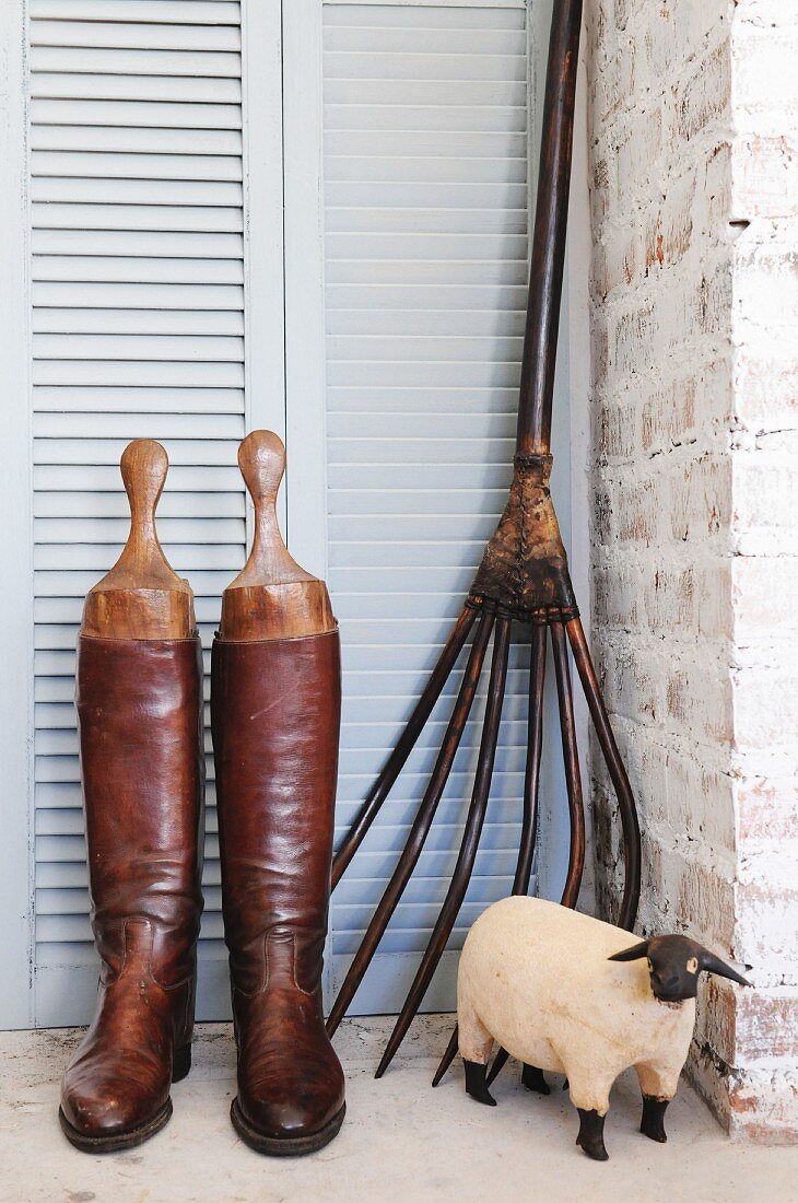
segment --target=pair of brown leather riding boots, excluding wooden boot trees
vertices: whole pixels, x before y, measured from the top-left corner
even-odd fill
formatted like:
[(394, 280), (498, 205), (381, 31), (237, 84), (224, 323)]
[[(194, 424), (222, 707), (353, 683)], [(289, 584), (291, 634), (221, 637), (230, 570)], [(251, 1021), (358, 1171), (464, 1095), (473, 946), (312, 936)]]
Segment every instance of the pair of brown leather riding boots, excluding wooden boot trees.
[[(260, 1152), (311, 1152), (335, 1136), (345, 1112), (321, 998), (338, 629), (333, 622), (320, 634), (238, 641), (224, 638), (222, 624), (221, 636), (213, 646), (212, 731), (238, 1048), (232, 1121)], [(84, 621), (77, 710), (102, 965), (97, 1014), (64, 1077), (60, 1120), (72, 1144), (90, 1152), (157, 1132), (172, 1113), (171, 1084), (191, 1066), (203, 905), (202, 681), (196, 635), (97, 638)]]

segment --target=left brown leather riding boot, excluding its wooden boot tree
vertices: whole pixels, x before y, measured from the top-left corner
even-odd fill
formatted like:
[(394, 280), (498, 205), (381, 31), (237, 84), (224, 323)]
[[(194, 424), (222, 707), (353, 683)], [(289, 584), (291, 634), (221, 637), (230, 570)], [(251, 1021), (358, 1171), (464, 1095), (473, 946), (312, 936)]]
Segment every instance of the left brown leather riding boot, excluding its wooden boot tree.
[(141, 1144), (191, 1065), (203, 760), (200, 640), (78, 645), (77, 709), (96, 1018), (61, 1086), (61, 1127), (88, 1152)]

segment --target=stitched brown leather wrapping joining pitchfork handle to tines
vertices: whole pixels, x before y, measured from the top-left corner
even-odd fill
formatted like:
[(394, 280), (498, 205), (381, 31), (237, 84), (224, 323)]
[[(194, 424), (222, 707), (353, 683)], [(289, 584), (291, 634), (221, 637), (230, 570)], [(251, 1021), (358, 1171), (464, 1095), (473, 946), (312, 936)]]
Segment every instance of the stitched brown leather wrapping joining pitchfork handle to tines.
[(549, 488), (550, 455), (516, 456), (510, 499), (486, 547), (469, 603), (524, 622), (579, 614)]

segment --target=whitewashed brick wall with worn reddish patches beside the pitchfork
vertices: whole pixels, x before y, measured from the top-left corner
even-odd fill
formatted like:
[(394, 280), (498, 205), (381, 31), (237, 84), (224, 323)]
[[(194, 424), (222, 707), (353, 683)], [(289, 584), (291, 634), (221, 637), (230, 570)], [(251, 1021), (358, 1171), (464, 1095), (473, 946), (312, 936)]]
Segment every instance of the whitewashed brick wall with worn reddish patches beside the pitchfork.
[(796, 1139), (798, 5), (585, 8), (594, 647), (642, 810), (639, 924), (752, 966), (752, 991), (707, 984), (690, 1073), (733, 1134)]

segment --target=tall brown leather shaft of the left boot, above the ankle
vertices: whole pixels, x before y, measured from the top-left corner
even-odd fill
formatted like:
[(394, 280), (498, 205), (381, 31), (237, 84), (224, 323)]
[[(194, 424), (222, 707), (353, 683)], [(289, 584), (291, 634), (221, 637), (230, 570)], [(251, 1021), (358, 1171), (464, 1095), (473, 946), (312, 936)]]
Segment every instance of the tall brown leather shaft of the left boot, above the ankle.
[(106, 977), (144, 938), (155, 976), (174, 984), (193, 971), (202, 912), (200, 640), (82, 635), (76, 704), (93, 926)]

